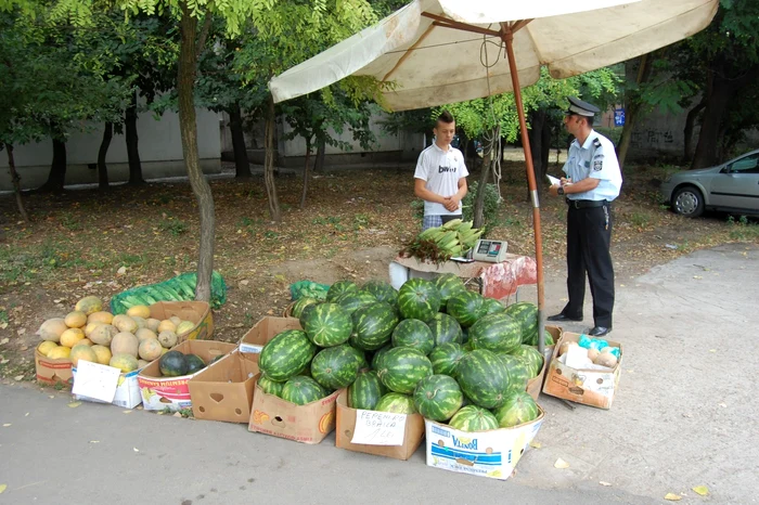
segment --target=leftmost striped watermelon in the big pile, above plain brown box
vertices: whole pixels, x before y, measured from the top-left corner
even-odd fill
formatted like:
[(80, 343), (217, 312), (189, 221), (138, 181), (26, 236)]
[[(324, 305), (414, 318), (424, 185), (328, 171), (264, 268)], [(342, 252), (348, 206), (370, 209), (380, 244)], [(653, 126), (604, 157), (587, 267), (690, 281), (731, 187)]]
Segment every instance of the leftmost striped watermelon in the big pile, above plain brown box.
[(308, 367), (317, 346), (300, 329), (285, 329), (261, 349), (258, 367), (271, 380), (284, 383)]

